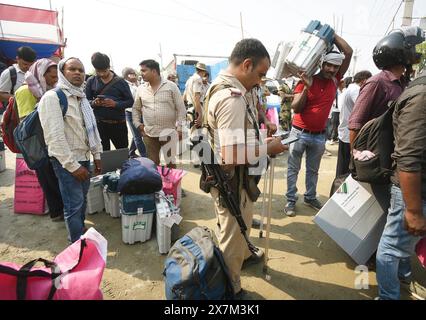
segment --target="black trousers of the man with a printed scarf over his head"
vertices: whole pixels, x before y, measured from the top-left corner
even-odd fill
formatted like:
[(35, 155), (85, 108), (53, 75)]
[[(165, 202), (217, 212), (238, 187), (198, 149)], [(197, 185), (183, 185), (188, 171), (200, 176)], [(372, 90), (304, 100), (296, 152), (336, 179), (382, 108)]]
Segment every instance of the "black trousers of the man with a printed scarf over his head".
[(49, 213), (52, 218), (64, 212), (61, 191), (59, 190), (58, 178), (56, 178), (50, 161), (43, 167), (35, 170), (38, 182), (46, 196)]

